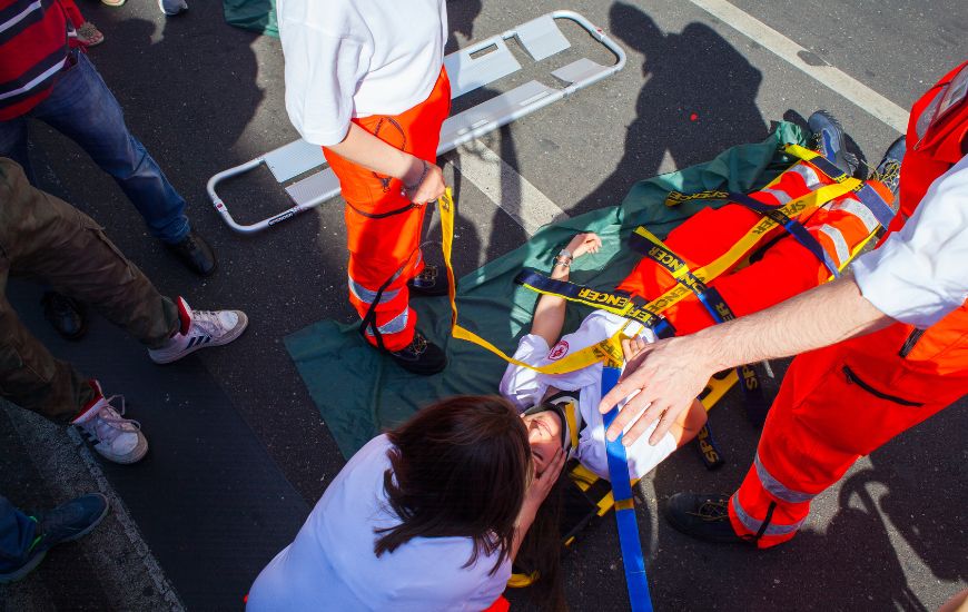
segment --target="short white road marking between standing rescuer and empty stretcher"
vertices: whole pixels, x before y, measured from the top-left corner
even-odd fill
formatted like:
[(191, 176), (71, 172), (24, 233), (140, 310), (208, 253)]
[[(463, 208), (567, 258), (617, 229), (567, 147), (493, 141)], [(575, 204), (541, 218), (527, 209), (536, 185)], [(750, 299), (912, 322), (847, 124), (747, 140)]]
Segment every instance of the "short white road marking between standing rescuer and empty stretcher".
[(457, 147), (454, 166), (529, 236), (569, 215), (480, 140)]

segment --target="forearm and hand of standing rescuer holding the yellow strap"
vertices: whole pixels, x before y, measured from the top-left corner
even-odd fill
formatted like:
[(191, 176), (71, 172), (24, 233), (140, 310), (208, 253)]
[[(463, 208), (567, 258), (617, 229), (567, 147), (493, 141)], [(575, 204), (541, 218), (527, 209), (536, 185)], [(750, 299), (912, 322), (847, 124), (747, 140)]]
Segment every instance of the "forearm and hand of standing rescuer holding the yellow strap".
[(338, 145), (327, 147), (357, 166), (378, 175), (398, 178), (414, 204), (426, 204), (444, 195), (444, 171), (436, 164), (424, 161), (393, 147), (356, 124), (349, 124), (346, 137)]

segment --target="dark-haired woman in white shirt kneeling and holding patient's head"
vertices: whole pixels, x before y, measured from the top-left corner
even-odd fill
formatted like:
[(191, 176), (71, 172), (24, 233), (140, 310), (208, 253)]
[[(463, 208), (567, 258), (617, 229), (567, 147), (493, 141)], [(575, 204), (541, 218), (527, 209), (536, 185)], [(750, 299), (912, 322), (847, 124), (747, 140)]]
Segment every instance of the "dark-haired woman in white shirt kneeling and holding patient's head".
[(505, 399), (428, 406), (349, 460), (247, 610), (484, 610), (563, 464), (534, 474)]

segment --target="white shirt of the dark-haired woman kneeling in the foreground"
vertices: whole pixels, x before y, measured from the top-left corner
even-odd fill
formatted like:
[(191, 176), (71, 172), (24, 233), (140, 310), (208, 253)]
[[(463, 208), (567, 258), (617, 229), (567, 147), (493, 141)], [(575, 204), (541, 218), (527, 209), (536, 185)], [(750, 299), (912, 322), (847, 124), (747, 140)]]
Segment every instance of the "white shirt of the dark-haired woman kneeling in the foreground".
[(326, 488), (296, 540), (259, 573), (247, 612), (484, 610), (511, 578), (484, 551), (470, 567), (470, 537), (416, 537), (392, 553), (373, 552), (374, 527), (399, 519), (383, 488), (385, 435), (359, 450)]

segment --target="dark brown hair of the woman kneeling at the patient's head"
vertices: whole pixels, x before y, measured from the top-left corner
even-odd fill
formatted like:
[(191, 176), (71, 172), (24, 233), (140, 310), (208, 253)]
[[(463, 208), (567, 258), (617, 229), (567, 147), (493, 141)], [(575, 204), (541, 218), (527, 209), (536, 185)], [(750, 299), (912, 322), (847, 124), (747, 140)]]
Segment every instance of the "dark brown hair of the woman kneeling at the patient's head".
[(463, 395), (427, 406), (387, 432), (395, 446), (383, 476), (401, 519), (377, 529), (377, 556), (414, 537), (474, 540), (464, 567), (498, 552), (491, 573), (511, 554), (515, 522), (531, 480), (527, 431), (501, 397)]

